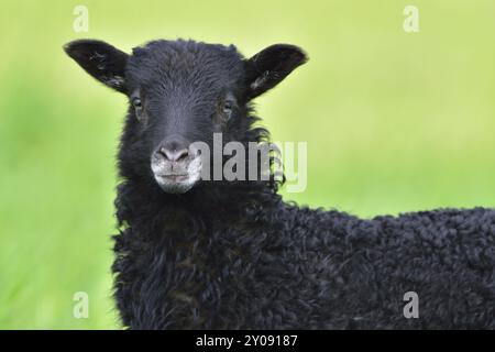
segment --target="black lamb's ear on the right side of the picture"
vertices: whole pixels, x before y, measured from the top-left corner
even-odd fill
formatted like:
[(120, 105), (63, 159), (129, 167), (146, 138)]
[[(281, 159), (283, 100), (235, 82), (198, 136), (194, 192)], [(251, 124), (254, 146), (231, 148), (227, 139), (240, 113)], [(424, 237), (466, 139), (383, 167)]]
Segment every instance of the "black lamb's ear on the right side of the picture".
[(295, 45), (275, 44), (261, 51), (246, 61), (249, 98), (272, 89), (307, 61), (305, 52)]

